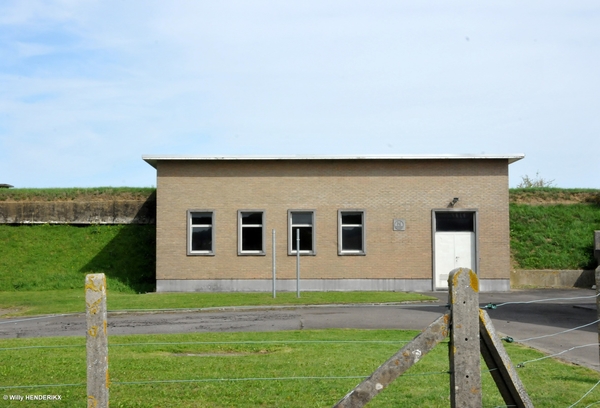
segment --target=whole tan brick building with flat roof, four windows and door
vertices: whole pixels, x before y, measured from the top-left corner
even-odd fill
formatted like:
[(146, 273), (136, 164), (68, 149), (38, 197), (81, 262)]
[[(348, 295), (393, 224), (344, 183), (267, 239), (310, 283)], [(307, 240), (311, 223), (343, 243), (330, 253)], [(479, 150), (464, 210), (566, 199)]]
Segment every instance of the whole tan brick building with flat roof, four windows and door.
[(508, 165), (524, 156), (144, 156), (157, 291), (510, 289)]

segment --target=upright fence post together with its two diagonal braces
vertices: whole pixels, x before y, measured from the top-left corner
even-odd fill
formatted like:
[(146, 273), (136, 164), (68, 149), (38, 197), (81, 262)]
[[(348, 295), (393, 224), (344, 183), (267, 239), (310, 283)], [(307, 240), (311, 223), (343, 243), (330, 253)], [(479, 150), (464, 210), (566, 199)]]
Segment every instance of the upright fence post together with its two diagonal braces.
[(492, 320), (485, 310), (479, 309), (479, 279), (475, 272), (470, 269), (454, 269), (448, 278), (448, 288), (450, 312), (440, 316), (380, 365), (370, 377), (339, 400), (334, 408), (363, 407), (431, 351), (447, 336), (448, 331), (452, 407), (481, 407), (483, 398), (480, 353), (506, 405), (517, 408), (533, 407), (502, 341), (496, 334)]

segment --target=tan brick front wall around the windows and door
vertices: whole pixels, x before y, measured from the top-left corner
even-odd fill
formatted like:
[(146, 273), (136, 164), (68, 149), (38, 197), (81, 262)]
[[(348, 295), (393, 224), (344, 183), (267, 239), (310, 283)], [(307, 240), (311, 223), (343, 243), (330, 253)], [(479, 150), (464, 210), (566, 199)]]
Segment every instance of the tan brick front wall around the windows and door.
[[(287, 211), (315, 210), (316, 256), (303, 279), (432, 277), (432, 209), (479, 214), (479, 276), (508, 279), (507, 160), (159, 161), (157, 279), (295, 278)], [(265, 211), (265, 256), (238, 256), (237, 211)], [(366, 255), (339, 256), (338, 210), (366, 211)], [(214, 210), (215, 256), (186, 254), (187, 210)], [(393, 231), (393, 219), (406, 220)]]

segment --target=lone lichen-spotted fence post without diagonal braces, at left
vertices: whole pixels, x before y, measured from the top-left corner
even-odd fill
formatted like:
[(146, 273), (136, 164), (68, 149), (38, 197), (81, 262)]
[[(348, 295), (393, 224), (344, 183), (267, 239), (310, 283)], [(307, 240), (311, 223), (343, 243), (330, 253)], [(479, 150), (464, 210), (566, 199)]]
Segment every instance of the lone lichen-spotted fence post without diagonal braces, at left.
[(103, 273), (85, 277), (87, 406), (108, 407), (108, 335), (106, 332), (106, 277)]

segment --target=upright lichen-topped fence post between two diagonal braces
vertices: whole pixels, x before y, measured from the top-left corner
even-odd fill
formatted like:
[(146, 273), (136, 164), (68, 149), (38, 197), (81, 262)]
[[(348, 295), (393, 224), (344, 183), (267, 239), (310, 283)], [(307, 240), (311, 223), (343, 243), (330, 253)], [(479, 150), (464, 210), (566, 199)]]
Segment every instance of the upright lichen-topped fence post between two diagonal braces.
[(481, 407), (479, 344), (479, 279), (470, 269), (455, 269), (448, 277), (450, 326), (450, 405)]

